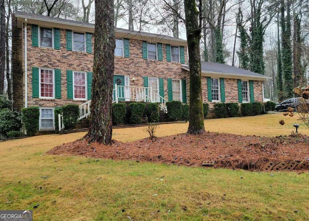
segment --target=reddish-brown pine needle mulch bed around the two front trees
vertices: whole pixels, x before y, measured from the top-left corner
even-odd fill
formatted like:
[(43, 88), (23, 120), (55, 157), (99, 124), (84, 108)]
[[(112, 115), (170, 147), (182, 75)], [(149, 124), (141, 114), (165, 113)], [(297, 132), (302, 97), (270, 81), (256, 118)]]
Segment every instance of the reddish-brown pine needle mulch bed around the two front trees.
[[(277, 170), (300, 169), (297, 165), (304, 163), (304, 169), (307, 169), (309, 137), (266, 138), (212, 132), (200, 135), (183, 133), (153, 140), (113, 141), (110, 146), (88, 144), (80, 139), (55, 147), (48, 154), (249, 170), (269, 170), (276, 166)], [(292, 162), (296, 165), (293, 166)]]

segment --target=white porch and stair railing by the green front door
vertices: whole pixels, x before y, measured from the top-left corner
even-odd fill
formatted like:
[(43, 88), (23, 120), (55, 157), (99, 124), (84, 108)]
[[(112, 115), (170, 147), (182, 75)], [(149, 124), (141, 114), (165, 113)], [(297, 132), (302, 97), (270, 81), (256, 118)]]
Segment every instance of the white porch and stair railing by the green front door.
[[(160, 109), (167, 112), (167, 100), (147, 87), (120, 86), (115, 84), (115, 88), (113, 89), (113, 103), (118, 103), (119, 101), (158, 102)], [(80, 117), (78, 120), (87, 118), (90, 115), (90, 104), (91, 100), (80, 105)]]

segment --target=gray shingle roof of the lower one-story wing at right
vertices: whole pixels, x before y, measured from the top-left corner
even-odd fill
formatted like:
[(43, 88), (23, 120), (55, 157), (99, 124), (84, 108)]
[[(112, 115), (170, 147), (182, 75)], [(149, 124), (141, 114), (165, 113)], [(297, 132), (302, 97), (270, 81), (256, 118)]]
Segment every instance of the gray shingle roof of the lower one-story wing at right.
[[(189, 65), (183, 65), (184, 68), (189, 68)], [(237, 75), (237, 76), (252, 76), (257, 78), (269, 78), (263, 74), (257, 74), (255, 72), (244, 70), (238, 67), (231, 65), (221, 64), (221, 63), (212, 63), (201, 61), (202, 72), (208, 72), (213, 74), (225, 74), (225, 75)]]

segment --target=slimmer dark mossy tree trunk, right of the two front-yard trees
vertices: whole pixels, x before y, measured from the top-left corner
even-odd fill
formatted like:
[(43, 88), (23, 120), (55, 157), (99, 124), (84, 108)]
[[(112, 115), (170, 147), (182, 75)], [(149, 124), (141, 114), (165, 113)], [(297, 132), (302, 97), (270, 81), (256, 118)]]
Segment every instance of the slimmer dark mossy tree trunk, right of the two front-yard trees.
[[(201, 8), (201, 5), (200, 5)], [(189, 95), (189, 134), (200, 134), (205, 132), (202, 78), (201, 78), (201, 56), (200, 40), (201, 26), (198, 22), (199, 11), (196, 9), (195, 0), (184, 0), (184, 12), (186, 17), (187, 42), (190, 67), (190, 95)], [(200, 15), (200, 22), (202, 22)], [(220, 30), (219, 30), (220, 31)]]

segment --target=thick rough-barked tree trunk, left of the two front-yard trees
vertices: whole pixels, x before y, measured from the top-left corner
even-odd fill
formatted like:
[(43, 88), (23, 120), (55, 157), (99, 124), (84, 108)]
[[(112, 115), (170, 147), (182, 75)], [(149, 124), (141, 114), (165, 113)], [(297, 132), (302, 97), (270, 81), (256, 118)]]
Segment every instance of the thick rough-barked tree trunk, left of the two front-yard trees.
[(114, 1), (95, 0), (94, 58), (89, 142), (111, 143), (114, 76)]

